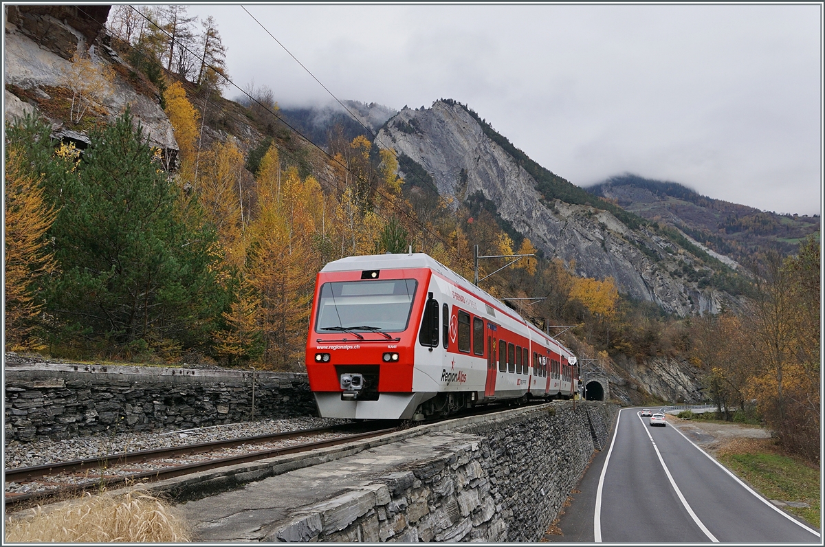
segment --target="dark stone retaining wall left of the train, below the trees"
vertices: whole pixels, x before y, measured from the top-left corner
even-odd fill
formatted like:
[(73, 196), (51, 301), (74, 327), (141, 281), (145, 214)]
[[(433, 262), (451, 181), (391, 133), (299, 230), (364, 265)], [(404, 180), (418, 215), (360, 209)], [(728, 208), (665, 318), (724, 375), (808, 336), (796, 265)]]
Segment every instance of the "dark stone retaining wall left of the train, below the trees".
[[(39, 363), (5, 370), (6, 442), (187, 429), (252, 415), (252, 371)], [(306, 375), (255, 373), (256, 417), (317, 415)]]

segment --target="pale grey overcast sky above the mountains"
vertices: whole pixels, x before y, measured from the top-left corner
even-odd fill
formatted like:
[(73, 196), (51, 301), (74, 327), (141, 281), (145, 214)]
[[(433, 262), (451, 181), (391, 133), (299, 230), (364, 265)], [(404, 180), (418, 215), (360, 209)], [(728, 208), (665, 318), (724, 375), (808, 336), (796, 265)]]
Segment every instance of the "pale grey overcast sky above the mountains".
[[(818, 4), (244, 5), (339, 99), (455, 99), (578, 186), (632, 172), (821, 211)], [(217, 21), (240, 87), (331, 100), (240, 5), (189, 13)]]

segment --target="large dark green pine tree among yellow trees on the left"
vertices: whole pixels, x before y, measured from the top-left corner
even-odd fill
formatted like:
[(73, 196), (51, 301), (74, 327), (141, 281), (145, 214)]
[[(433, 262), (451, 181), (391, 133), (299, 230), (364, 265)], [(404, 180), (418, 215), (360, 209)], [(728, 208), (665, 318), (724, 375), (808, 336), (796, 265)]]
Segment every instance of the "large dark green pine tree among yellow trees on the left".
[(181, 222), (177, 186), (130, 111), (90, 139), (55, 193), (50, 236), (62, 275), (48, 291), (50, 312), (64, 335), (111, 351), (204, 344), (224, 305), (214, 233)]

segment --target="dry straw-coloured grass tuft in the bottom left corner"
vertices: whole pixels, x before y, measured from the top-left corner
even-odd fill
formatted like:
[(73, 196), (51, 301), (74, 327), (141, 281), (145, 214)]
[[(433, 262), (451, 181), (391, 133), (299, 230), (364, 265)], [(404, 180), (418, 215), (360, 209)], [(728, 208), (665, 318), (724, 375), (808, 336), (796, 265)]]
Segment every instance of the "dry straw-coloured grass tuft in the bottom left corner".
[(166, 504), (142, 492), (84, 493), (54, 510), (38, 506), (6, 519), (7, 543), (182, 543), (190, 538)]

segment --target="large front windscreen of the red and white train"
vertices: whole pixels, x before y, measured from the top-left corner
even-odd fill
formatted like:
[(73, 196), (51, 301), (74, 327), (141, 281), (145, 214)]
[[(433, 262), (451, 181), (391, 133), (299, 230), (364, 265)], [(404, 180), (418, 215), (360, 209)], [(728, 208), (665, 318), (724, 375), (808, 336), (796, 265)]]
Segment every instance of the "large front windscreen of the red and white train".
[(413, 311), (414, 279), (332, 281), (321, 286), (315, 332), (403, 332)]

